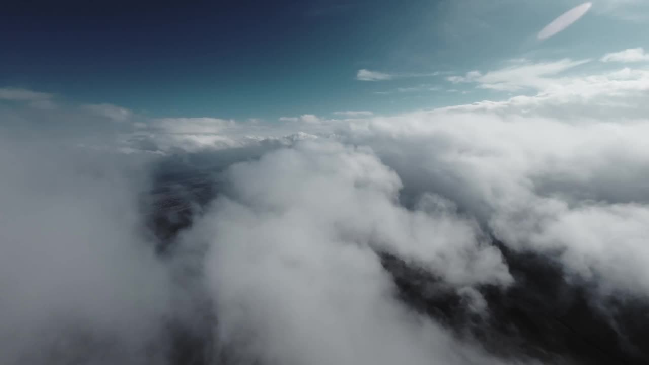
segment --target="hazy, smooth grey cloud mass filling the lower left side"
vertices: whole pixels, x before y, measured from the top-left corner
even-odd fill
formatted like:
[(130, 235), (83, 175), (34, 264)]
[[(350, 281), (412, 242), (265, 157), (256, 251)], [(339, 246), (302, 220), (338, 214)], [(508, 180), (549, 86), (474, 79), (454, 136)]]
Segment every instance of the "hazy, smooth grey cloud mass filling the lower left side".
[(3, 132), (0, 362), (164, 362), (171, 283), (139, 229), (141, 163)]

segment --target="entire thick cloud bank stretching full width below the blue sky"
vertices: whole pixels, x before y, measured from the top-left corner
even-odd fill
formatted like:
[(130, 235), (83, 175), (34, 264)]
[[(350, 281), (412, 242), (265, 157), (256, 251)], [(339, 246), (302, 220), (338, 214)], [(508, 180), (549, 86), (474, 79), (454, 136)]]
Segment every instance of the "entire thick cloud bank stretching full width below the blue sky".
[(520, 69), (458, 82), (538, 95), (273, 131), (21, 92), (0, 362), (645, 364), (647, 73)]

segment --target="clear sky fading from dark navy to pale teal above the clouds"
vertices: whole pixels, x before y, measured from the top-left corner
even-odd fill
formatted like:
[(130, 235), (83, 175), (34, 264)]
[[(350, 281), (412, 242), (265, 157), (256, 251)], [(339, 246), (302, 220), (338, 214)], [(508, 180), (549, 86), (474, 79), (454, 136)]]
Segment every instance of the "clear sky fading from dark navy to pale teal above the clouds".
[[(154, 118), (268, 122), (497, 101), (507, 92), (448, 77), (647, 46), (643, 0), (596, 0), (572, 27), (537, 40), (580, 3), (18, 2), (0, 15), (0, 86)], [(363, 81), (361, 70), (390, 76)]]

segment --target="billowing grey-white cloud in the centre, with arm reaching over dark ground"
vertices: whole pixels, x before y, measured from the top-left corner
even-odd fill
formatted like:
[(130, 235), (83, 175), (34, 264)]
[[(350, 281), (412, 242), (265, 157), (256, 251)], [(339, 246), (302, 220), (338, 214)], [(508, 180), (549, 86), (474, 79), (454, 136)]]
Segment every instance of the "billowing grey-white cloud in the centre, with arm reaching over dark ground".
[(508, 284), (500, 253), (480, 242), (471, 220), (442, 205), (400, 207), (398, 176), (371, 151), (301, 142), (232, 166), (227, 182), (193, 232), (199, 238), (186, 239), (211, 247), (219, 336), (239, 356), (284, 364), (493, 362), (400, 305), (377, 252), (420, 262), (459, 287)]

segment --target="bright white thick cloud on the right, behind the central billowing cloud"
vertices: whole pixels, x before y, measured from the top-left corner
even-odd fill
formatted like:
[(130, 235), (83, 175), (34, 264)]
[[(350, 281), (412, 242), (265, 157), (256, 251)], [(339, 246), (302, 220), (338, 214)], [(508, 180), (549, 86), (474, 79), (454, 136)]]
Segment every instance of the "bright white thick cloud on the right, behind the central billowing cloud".
[(455, 201), (513, 247), (563, 251), (572, 275), (647, 295), (649, 272), (640, 263), (647, 253), (636, 243), (647, 232), (634, 227), (643, 227), (648, 209), (649, 192), (637, 183), (649, 171), (640, 137), (648, 128), (646, 121), (431, 112), (374, 120), (367, 136), (356, 130), (352, 140), (371, 145), (406, 187)]

